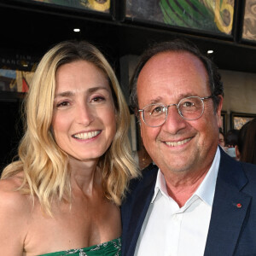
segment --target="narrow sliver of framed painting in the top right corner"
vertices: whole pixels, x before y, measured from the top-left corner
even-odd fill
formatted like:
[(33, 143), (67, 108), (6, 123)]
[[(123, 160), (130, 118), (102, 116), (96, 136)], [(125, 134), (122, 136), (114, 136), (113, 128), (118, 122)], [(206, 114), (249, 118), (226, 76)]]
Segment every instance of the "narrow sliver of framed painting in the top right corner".
[(256, 40), (256, 0), (246, 1), (242, 38)]

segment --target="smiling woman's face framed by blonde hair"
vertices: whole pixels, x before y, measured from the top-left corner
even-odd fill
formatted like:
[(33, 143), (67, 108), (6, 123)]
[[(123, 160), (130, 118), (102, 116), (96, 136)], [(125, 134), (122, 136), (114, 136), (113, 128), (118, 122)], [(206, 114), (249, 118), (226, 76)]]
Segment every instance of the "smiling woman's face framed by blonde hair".
[(107, 151), (116, 132), (106, 75), (88, 61), (74, 61), (58, 68), (55, 81), (55, 142), (74, 159), (97, 160)]

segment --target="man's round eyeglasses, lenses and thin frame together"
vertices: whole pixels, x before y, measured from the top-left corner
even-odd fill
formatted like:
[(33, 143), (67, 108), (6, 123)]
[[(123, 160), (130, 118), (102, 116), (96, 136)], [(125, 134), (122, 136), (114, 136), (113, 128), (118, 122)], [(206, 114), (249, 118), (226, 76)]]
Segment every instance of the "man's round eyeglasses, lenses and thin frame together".
[(142, 112), (143, 122), (150, 127), (159, 127), (166, 122), (168, 108), (176, 106), (177, 113), (185, 120), (196, 120), (204, 113), (204, 100), (213, 98), (213, 96), (199, 97), (189, 96), (181, 99), (177, 104), (164, 106), (161, 104), (150, 104), (138, 112)]

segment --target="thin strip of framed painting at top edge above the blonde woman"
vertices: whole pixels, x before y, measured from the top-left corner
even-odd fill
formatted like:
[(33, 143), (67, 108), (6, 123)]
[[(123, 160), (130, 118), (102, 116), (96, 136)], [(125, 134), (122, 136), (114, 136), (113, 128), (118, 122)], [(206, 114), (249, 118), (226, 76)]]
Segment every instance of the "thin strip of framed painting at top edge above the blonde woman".
[(35, 2), (52, 3), (76, 9), (91, 9), (109, 13), (110, 0), (32, 0)]

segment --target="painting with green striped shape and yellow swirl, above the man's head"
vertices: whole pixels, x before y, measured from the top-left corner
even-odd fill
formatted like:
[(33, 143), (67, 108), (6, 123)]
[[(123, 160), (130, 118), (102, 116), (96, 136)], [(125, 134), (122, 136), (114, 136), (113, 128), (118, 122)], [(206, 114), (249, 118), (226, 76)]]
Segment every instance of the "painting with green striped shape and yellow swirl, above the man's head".
[(234, 0), (127, 0), (126, 16), (231, 34)]

